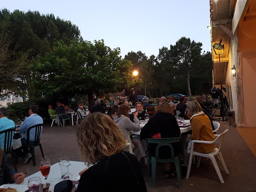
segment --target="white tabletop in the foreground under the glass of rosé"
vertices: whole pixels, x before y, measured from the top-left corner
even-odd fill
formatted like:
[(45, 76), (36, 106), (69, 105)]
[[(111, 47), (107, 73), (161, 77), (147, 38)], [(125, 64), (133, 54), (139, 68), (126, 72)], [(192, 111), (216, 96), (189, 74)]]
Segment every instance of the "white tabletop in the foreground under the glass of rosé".
[[(76, 178), (79, 176), (79, 172), (82, 171), (83, 169), (87, 168), (87, 166), (83, 162), (80, 162), (80, 161), (69, 161), (69, 162), (71, 163), (71, 165), (69, 166), (69, 172), (73, 175), (72, 180), (77, 181)], [(14, 184), (27, 186), (28, 185), (28, 179), (30, 179), (32, 177), (41, 177), (42, 183), (44, 183), (43, 175), (39, 171), (39, 172), (34, 173), (33, 175), (30, 175), (30, 176), (26, 177), (22, 183), (20, 183), (20, 184), (14, 183)], [(47, 182), (51, 183), (51, 186), (50, 186), (49, 190), (53, 192), (54, 191), (54, 186), (57, 183), (59, 183), (60, 181), (62, 181), (60, 165), (59, 165), (59, 163), (55, 163), (55, 164), (51, 165), (50, 173), (49, 173), (49, 176), (47, 178)]]

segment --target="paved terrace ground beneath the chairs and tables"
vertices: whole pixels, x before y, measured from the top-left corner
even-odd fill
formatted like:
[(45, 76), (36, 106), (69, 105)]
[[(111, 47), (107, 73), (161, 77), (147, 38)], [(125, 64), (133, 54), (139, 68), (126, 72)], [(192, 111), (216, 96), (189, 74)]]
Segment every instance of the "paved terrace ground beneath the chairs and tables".
[[(164, 178), (163, 164), (157, 164), (156, 170), (156, 189), (151, 187), (151, 177), (147, 176), (147, 167), (141, 161), (141, 169), (149, 192), (164, 191), (256, 191), (256, 158), (243, 140), (235, 127), (228, 127), (227, 122), (220, 122), (221, 127), (217, 134), (222, 133), (225, 129), (229, 129), (226, 134), (224, 145), (221, 149), (224, 161), (228, 167), (230, 174), (226, 174), (220, 161), (217, 161), (222, 177), (225, 183), (221, 183), (217, 173), (210, 165), (207, 168), (196, 168), (192, 164), (189, 179), (182, 179), (182, 188), (178, 188), (177, 177), (169, 179)], [(77, 126), (58, 127), (56, 124), (50, 127), (50, 124), (44, 124), (41, 144), (45, 157), (50, 157), (51, 164), (58, 162), (60, 157), (70, 157), (71, 161), (80, 161), (80, 154), (76, 142)], [(41, 152), (39, 147), (35, 148), (36, 166), (33, 167), (32, 161), (23, 164), (19, 158), (17, 169), (18, 172), (26, 172), (29, 167), (28, 175), (39, 170), (39, 158)], [(8, 155), (8, 162), (12, 163)], [(13, 167), (11, 165), (11, 167)]]

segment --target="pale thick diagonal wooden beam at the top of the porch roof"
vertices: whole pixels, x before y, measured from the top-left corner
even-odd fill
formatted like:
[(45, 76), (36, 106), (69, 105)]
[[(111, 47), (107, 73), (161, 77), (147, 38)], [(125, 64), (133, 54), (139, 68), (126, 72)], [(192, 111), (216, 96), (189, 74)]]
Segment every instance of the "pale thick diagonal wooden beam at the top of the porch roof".
[(247, 12), (247, 9), (250, 5), (251, 0), (237, 0), (235, 12), (232, 20), (232, 32), (233, 35), (236, 32), (237, 26), (240, 23), (240, 21), (243, 19), (245, 13)]

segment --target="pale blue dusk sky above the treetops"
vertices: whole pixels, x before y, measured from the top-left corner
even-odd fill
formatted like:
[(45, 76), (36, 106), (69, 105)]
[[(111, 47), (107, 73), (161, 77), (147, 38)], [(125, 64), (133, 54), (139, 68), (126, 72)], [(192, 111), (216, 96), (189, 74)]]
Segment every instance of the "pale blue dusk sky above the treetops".
[(107, 46), (120, 47), (123, 57), (138, 50), (157, 56), (159, 48), (169, 48), (183, 36), (211, 50), (209, 0), (2, 0), (0, 7), (53, 13), (78, 25), (84, 40), (104, 39)]

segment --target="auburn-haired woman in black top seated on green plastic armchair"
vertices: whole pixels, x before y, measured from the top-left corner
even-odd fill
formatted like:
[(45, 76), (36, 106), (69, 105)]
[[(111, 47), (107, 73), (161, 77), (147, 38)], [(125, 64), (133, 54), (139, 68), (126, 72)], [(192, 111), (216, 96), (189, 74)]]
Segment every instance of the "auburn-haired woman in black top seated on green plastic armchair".
[[(142, 128), (140, 137), (142, 139), (180, 137), (180, 127), (175, 116), (171, 114), (172, 112), (173, 109), (168, 102), (161, 103), (157, 113), (151, 117), (148, 123)], [(171, 143), (171, 145), (173, 146), (174, 156), (177, 156), (180, 152), (179, 142)], [(150, 143), (148, 146), (148, 152), (154, 157), (157, 146), (158, 144), (154, 145), (153, 143)], [(160, 159), (171, 158), (171, 149), (169, 146), (161, 146), (158, 153)], [(169, 177), (170, 173), (174, 175), (173, 171), (170, 170), (170, 163), (165, 163), (165, 177)]]

